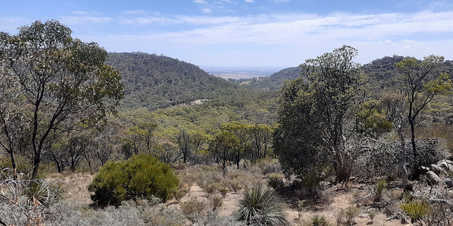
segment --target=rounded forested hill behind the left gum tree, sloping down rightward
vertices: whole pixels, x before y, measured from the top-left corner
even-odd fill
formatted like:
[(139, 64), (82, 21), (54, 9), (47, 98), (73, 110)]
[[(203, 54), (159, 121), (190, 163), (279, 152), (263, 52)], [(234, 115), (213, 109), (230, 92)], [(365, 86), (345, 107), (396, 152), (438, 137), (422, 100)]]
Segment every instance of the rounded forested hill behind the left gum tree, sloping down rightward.
[(109, 53), (106, 64), (122, 73), (123, 109), (159, 109), (231, 95), (239, 85), (212, 76), (198, 66), (146, 53)]

